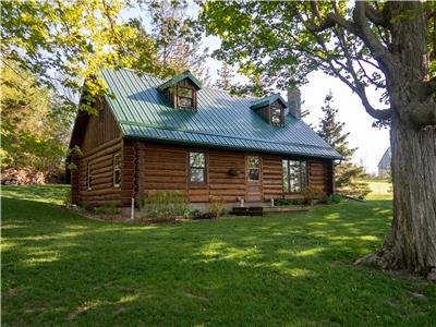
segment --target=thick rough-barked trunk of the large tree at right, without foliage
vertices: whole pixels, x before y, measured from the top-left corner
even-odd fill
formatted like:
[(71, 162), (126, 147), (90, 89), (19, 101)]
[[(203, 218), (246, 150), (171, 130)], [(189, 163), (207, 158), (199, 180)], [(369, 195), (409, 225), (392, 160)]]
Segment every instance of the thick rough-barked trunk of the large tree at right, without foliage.
[(428, 77), (426, 17), (420, 2), (387, 5), (389, 16), (397, 17), (391, 26), (395, 69), (386, 76), (392, 108), (393, 221), (382, 250), (362, 261), (436, 280), (436, 104), (420, 88)]

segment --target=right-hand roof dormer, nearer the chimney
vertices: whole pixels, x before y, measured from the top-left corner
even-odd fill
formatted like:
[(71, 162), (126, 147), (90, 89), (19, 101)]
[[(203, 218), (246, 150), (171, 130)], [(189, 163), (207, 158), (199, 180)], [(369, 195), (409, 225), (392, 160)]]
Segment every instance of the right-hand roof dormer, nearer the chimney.
[(287, 102), (278, 93), (254, 101), (250, 108), (270, 125), (284, 126)]

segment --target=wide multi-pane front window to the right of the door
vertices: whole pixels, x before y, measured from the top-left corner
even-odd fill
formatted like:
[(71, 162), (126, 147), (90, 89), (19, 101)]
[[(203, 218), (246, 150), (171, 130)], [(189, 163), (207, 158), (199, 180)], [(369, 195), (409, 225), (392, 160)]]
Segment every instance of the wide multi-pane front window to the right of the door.
[(301, 192), (307, 186), (307, 164), (305, 160), (282, 160), (283, 192)]

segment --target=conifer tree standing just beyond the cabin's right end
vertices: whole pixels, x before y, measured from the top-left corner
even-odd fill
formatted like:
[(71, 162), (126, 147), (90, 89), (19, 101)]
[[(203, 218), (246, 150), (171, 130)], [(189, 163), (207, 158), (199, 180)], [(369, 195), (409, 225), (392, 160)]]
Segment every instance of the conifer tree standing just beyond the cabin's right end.
[(332, 101), (330, 90), (326, 95), (322, 107), (324, 118), (319, 121), (317, 133), (344, 158), (343, 161), (335, 167), (337, 191), (358, 198), (364, 198), (371, 192), (368, 184), (362, 182), (366, 173), (362, 166), (351, 162), (358, 148), (349, 146), (347, 138), (350, 133), (344, 133), (344, 123), (337, 121), (338, 109), (331, 106)]

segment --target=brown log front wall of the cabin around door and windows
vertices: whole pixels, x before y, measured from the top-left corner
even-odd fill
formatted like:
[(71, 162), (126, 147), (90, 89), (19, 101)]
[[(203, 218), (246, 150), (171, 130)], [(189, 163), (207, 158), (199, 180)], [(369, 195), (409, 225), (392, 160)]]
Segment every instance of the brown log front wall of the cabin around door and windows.
[[(211, 197), (226, 202), (237, 202), (240, 198), (257, 202), (301, 197), (300, 194), (283, 194), (282, 192), (281, 156), (257, 154), (262, 162), (261, 181), (253, 183), (247, 180), (246, 157), (256, 154), (141, 142), (132, 144), (132, 148), (136, 152), (136, 158), (130, 158), (132, 162), (136, 162), (135, 194), (175, 191), (187, 196), (193, 203), (209, 202)], [(189, 181), (190, 150), (206, 154), (207, 182), (204, 184), (194, 184)], [(239, 173), (234, 177), (229, 175), (231, 168), (238, 170)], [(310, 186), (323, 194), (331, 193), (330, 168), (331, 160), (310, 159)], [(255, 194), (257, 190), (258, 196)]]

